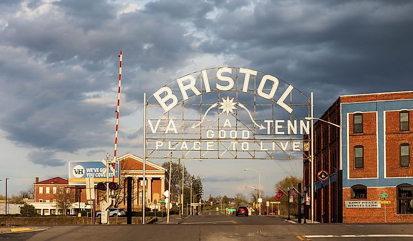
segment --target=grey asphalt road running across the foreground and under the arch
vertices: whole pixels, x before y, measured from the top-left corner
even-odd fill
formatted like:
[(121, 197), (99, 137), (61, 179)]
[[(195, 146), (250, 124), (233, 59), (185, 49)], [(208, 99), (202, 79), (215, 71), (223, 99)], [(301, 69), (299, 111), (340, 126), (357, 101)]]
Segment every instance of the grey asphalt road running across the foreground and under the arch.
[[(280, 217), (186, 217), (182, 224), (54, 226), (42, 232), (0, 235), (30, 241), (411, 241), (407, 224), (292, 224)], [(16, 235), (16, 236), (13, 236)], [(14, 237), (14, 238), (13, 238)]]

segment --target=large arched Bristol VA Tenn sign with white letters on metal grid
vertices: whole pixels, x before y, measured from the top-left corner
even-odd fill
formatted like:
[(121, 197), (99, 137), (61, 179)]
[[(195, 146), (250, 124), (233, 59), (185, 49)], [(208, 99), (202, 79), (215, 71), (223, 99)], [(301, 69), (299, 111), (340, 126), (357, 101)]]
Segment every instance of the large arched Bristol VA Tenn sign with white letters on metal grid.
[(144, 160), (303, 159), (309, 149), (311, 98), (256, 70), (196, 71), (144, 99)]

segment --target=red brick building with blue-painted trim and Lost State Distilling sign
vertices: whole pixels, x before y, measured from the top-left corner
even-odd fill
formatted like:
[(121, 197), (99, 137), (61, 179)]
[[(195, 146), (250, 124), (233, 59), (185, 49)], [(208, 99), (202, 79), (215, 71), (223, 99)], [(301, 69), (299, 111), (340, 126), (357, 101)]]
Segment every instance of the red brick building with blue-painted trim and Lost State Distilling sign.
[[(413, 91), (340, 96), (320, 119), (341, 128), (314, 123), (314, 220), (384, 222), (386, 205), (387, 222), (412, 222)], [(322, 170), (326, 181), (317, 180)]]

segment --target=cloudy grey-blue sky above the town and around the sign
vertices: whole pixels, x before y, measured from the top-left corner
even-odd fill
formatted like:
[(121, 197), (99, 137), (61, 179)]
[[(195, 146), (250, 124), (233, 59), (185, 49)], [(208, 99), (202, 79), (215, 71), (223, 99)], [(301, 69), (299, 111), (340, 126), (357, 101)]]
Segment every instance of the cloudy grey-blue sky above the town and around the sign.
[[(1, 0), (0, 193), (35, 176), (67, 178), (69, 160), (113, 153), (118, 53), (123, 55), (118, 153), (142, 154), (143, 93), (209, 67), (277, 76), (320, 116), (340, 94), (412, 90), (412, 1)], [(162, 113), (160, 113), (162, 114)], [(299, 161), (189, 162), (205, 193), (265, 194)]]

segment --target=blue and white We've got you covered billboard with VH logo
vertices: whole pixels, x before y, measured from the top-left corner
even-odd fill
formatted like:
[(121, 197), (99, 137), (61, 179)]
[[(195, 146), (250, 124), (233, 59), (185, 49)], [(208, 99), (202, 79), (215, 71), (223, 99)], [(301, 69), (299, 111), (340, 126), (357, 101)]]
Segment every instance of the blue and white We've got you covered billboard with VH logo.
[[(69, 161), (69, 185), (86, 185), (86, 177), (94, 177), (95, 185), (106, 181), (106, 164), (102, 161)], [(109, 170), (109, 181), (113, 172)], [(115, 182), (119, 183), (119, 162), (116, 163)]]

